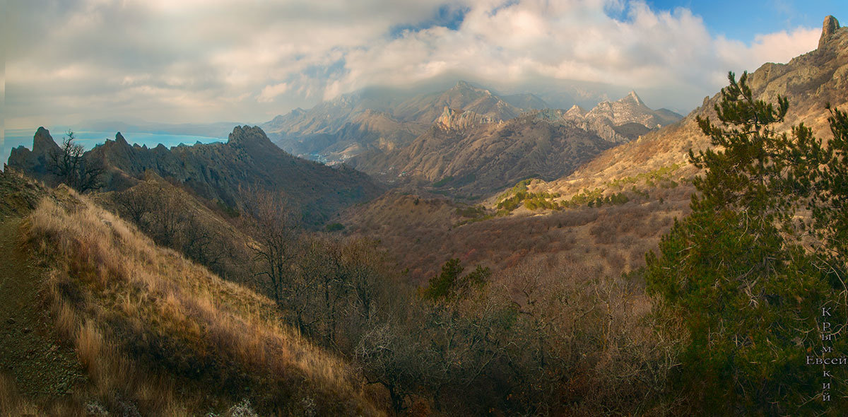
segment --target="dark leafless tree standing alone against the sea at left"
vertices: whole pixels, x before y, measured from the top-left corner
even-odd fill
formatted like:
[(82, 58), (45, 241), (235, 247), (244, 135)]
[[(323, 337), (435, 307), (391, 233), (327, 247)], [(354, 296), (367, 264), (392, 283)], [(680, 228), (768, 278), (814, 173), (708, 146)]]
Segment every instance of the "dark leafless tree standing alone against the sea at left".
[(86, 150), (74, 142), (73, 131), (68, 131), (58, 150), (49, 153), (47, 170), (52, 172), (67, 186), (78, 192), (96, 190), (103, 186), (103, 164), (85, 158)]

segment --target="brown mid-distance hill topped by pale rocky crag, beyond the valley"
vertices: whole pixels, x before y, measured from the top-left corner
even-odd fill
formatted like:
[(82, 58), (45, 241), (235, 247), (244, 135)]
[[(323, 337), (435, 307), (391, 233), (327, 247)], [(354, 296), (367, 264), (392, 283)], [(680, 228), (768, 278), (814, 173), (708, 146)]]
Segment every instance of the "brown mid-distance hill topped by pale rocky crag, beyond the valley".
[(541, 175), (555, 179), (611, 147), (565, 120), (534, 112), (506, 121), (445, 108), (443, 117), (409, 146), (355, 158), (357, 170), (385, 181), (398, 177), (434, 183), (454, 194), (487, 195)]

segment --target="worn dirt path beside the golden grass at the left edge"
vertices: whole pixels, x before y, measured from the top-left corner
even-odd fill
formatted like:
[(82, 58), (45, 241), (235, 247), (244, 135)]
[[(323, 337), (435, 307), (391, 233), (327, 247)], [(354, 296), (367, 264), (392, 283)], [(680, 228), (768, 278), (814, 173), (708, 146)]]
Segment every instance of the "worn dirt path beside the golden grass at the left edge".
[(26, 398), (60, 398), (86, 378), (73, 349), (55, 336), (38, 296), (46, 274), (20, 247), (21, 221), (0, 223), (0, 372)]

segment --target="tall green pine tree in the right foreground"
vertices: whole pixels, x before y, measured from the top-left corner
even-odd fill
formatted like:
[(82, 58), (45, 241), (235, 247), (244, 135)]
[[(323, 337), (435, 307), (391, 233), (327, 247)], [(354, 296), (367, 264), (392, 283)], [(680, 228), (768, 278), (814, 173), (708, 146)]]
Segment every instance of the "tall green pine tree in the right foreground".
[[(848, 354), (840, 338), (823, 343), (818, 314), (834, 308), (827, 320), (845, 325), (845, 298), (838, 297), (844, 274), (823, 268), (823, 258), (802, 244), (804, 230), (795, 220), (797, 208), (806, 204), (815, 214), (817, 204), (832, 207), (834, 196), (843, 195), (841, 188), (824, 189), (844, 184), (845, 170), (834, 162), (844, 157), (830, 158), (840, 153), (828, 153), (803, 126), (791, 136), (776, 133), (788, 101), (755, 100), (747, 74), (737, 82), (730, 73), (728, 80), (715, 107), (720, 123), (697, 120), (713, 148), (689, 153), (704, 170), (693, 181), (692, 214), (663, 236), (659, 256), (646, 257), (649, 291), (661, 295), (664, 313), (679, 317), (689, 331), (677, 394), (715, 414), (844, 409), (848, 387), (834, 384), (832, 401), (821, 401), (822, 368), (807, 364), (808, 356), (828, 356), (821, 353), (824, 346), (833, 348), (831, 355)], [(838, 116), (834, 112), (836, 125)], [(805, 172), (823, 161), (834, 164), (827, 175)], [(834, 239), (844, 230), (833, 219), (838, 216), (813, 217), (812, 227), (830, 225), (834, 231), (824, 234)], [(838, 264), (833, 257), (830, 262)], [(844, 267), (844, 257), (842, 262)], [(844, 378), (840, 369), (833, 371)]]

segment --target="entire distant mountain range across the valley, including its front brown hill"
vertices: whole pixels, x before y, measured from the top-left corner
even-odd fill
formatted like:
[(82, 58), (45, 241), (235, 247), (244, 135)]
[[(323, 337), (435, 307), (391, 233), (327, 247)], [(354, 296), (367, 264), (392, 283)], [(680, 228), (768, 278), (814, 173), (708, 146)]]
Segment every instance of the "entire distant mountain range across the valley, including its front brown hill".
[(601, 151), (682, 116), (630, 92), (588, 112), (551, 109), (533, 94), (499, 96), (466, 81), (414, 97), (349, 94), (295, 109), (263, 128), (280, 147), (377, 179), (443, 181), (455, 193), (494, 192), (527, 177), (553, 180)]

